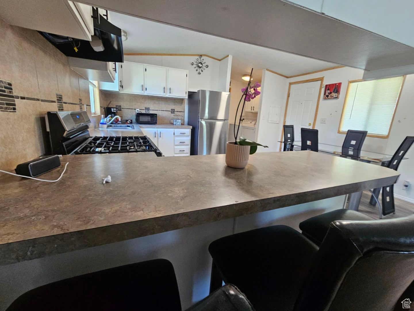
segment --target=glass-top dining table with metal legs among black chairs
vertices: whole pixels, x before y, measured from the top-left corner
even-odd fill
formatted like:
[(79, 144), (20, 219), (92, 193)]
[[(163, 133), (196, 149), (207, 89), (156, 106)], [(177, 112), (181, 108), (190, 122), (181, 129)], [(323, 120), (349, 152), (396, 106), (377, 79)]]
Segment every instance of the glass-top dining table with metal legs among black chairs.
[[(278, 141), (279, 143), (285, 144), (283, 141)], [(300, 151), (301, 150), (301, 141), (294, 141), (293, 143), (286, 143), (286, 147), (289, 149), (291, 148), (289, 145), (293, 147), (293, 151)], [(344, 158), (349, 158), (353, 160), (358, 160), (361, 162), (373, 163), (381, 166), (387, 166), (389, 161), (392, 158), (392, 155), (385, 154), (385, 153), (378, 153), (373, 151), (368, 151), (361, 149), (360, 155), (356, 155), (356, 151), (354, 152), (355, 155), (351, 156), (344, 156), (342, 155), (342, 146), (332, 145), (329, 143), (318, 143), (318, 152), (328, 153), (335, 156), (340, 156)], [(403, 160), (408, 158), (403, 158)], [(378, 192), (378, 191), (377, 191)], [(379, 192), (378, 192), (379, 193)], [(349, 194), (349, 202), (348, 208), (353, 209), (354, 211), (358, 211), (359, 203), (361, 202), (362, 192), (354, 192)], [(375, 199), (374, 199), (375, 197)], [(377, 201), (377, 196), (373, 195), (370, 201), (370, 204), (375, 205), (374, 203), (378, 204), (380, 207), (379, 202)], [(344, 206), (346, 204), (347, 198), (345, 198)]]

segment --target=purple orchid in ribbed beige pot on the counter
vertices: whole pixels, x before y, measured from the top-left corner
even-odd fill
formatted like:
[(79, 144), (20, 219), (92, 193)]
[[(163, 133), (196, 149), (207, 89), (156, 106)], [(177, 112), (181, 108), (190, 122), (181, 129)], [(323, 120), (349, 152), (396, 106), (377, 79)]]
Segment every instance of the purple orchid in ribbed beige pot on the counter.
[(238, 126), (237, 126), (237, 131), (236, 131), (237, 112), (238, 112), (238, 109), (240, 108), (241, 101), (243, 100), (243, 105), (241, 107), (241, 111), (243, 112), (246, 102), (250, 102), (250, 100), (255, 99), (255, 97), (260, 94), (260, 91), (258, 90), (258, 87), (260, 87), (260, 84), (258, 82), (256, 82), (253, 85), (250, 85), (251, 80), (252, 80), (251, 78), (252, 73), (253, 73), (253, 68), (252, 68), (252, 71), (250, 72), (250, 78), (249, 78), (249, 82), (247, 86), (241, 89), (241, 92), (243, 93), (243, 95), (241, 95), (240, 101), (238, 102), (237, 110), (236, 110), (236, 117), (234, 118), (234, 124), (235, 124), (234, 130), (233, 130), (234, 141), (227, 142), (226, 164), (230, 166), (231, 168), (245, 168), (249, 160), (249, 155), (255, 153), (258, 149), (258, 146), (268, 148), (267, 146), (263, 146), (260, 143), (250, 141), (244, 137), (240, 137), (240, 140), (237, 140), (238, 131), (240, 129), (240, 124), (242, 121), (242, 117), (241, 117), (242, 114), (240, 114), (240, 119), (238, 120)]

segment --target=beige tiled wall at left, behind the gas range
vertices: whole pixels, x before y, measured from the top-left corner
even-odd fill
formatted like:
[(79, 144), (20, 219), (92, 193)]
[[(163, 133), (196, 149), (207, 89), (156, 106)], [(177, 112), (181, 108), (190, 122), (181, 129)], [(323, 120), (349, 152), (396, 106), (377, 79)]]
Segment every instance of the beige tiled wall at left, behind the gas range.
[[(63, 95), (64, 110), (79, 110), (79, 98), (90, 112), (89, 83), (70, 69), (67, 58), (38, 32), (11, 26), (0, 19), (0, 80), (12, 83), (16, 112), (0, 110), (0, 169), (47, 152), (43, 115), (57, 111), (56, 93)], [(23, 100), (32, 97), (39, 100)], [(0, 102), (5, 102), (1, 97)], [(2, 106), (3, 104), (0, 104)], [(45, 148), (46, 142), (46, 148)]]

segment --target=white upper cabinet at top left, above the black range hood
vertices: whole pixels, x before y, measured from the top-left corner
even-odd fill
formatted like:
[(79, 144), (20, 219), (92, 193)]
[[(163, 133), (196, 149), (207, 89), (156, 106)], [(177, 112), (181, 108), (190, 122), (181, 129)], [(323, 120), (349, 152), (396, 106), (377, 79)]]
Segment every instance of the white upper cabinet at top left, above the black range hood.
[(88, 41), (94, 33), (89, 5), (72, 1), (0, 0), (0, 7), (0, 18), (12, 25)]

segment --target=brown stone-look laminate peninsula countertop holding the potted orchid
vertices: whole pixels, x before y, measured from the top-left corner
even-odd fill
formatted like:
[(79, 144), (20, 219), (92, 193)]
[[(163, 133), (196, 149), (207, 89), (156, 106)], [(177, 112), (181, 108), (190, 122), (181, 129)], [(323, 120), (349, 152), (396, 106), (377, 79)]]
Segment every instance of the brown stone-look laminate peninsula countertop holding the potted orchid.
[(67, 155), (59, 182), (2, 176), (0, 265), (391, 185), (399, 175), (312, 151), (256, 153), (241, 170), (224, 160)]

